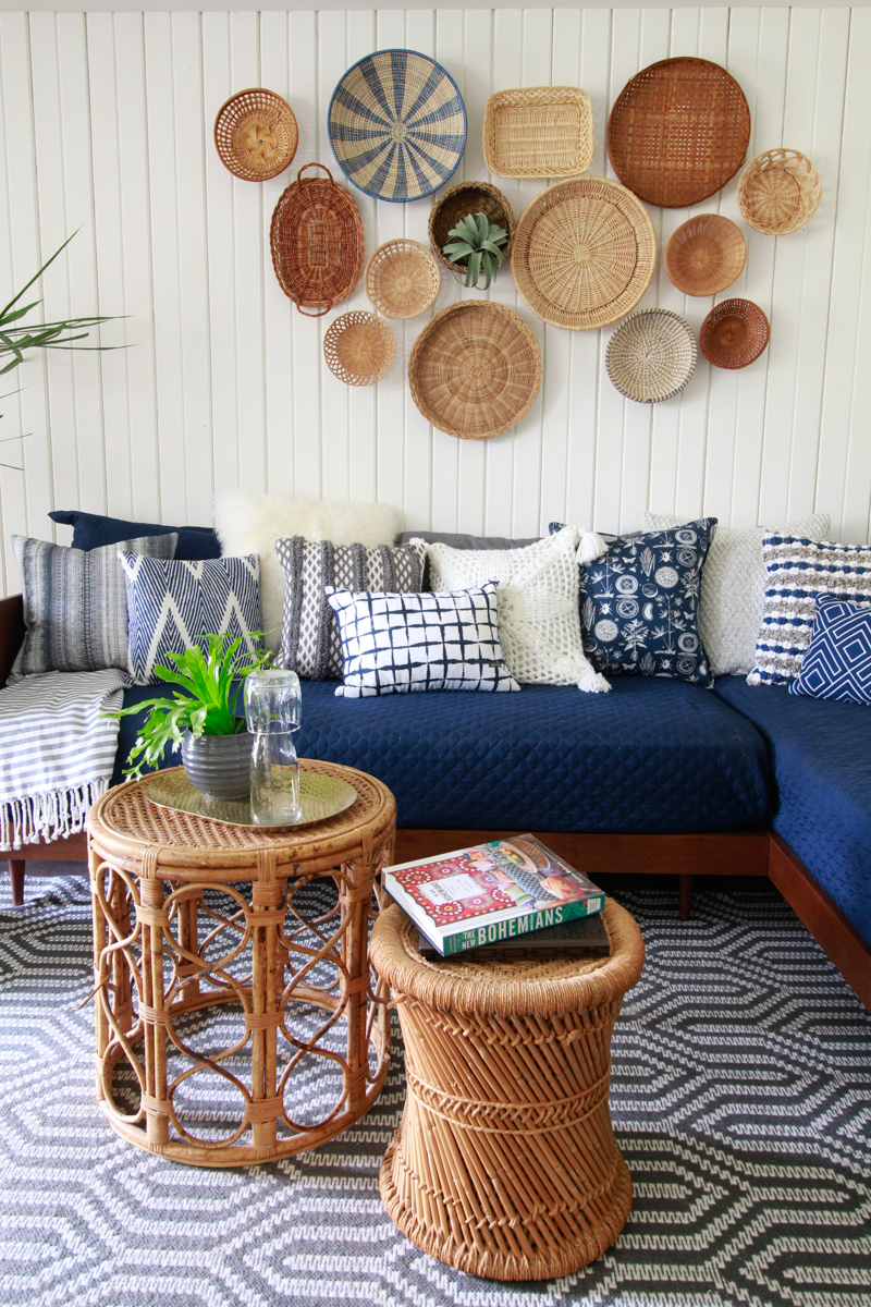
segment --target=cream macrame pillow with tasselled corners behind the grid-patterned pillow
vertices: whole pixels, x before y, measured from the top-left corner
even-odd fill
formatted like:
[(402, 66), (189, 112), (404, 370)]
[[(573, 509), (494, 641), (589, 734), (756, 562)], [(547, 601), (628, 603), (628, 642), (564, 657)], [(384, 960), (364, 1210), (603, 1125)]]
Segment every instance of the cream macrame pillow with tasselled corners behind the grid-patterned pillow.
[(499, 639), (513, 677), (526, 685), (611, 686), (584, 656), (578, 616), (578, 561), (606, 552), (593, 532), (562, 531), (525, 549), (452, 549), (430, 545), (432, 589), (499, 586)]

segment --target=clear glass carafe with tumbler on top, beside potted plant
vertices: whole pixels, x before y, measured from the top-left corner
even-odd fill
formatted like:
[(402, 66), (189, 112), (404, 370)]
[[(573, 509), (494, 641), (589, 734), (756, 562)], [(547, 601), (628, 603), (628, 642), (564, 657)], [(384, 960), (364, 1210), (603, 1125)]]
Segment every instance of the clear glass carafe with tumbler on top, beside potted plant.
[(295, 672), (270, 669), (245, 678), (251, 750), (251, 816), (259, 826), (290, 826), (302, 817), (294, 731), (302, 720)]

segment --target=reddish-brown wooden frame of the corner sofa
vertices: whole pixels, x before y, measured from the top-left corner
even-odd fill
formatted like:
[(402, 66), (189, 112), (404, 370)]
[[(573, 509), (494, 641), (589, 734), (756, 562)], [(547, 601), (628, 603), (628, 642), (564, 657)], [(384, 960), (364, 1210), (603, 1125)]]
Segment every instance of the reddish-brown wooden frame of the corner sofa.
[[(0, 685), (5, 684), (24, 631), (21, 595), (0, 600)], [(505, 834), (507, 831), (488, 830), (400, 830), (394, 856), (398, 863), (406, 863), (417, 857), (437, 856), (445, 848), (464, 848)], [(582, 867), (593, 878), (644, 873), (679, 876), (682, 921), (689, 916), (693, 877), (767, 876), (871, 1012), (871, 949), (789, 844), (773, 831), (710, 835), (534, 834), (569, 863)], [(82, 833), (17, 850), (16, 856), (9, 859), (14, 904), (24, 903), (25, 868), (30, 860), (86, 861), (86, 836)]]

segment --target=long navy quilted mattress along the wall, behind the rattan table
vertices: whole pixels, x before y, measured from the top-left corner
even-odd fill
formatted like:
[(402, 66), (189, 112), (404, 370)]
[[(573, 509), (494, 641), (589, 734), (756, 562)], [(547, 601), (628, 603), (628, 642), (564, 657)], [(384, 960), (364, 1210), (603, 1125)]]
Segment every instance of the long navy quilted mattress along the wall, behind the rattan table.
[[(610, 694), (537, 685), (372, 699), (334, 689), (303, 682), (299, 754), (377, 776), (404, 827), (680, 834), (768, 818), (761, 736), (695, 685), (620, 677)], [(128, 690), (124, 702), (153, 694)], [(121, 719), (119, 757), (136, 731), (136, 716)]]

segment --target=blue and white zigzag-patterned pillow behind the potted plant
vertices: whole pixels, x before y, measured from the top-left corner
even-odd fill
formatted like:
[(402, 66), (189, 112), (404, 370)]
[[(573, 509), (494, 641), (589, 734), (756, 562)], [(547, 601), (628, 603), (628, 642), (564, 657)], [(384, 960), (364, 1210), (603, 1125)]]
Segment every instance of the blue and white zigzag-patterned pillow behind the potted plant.
[(184, 654), (204, 635), (242, 637), (248, 652), (262, 648), (260, 558), (165, 562), (119, 553), (127, 582), (128, 672), (135, 685), (155, 684), (154, 667)]

